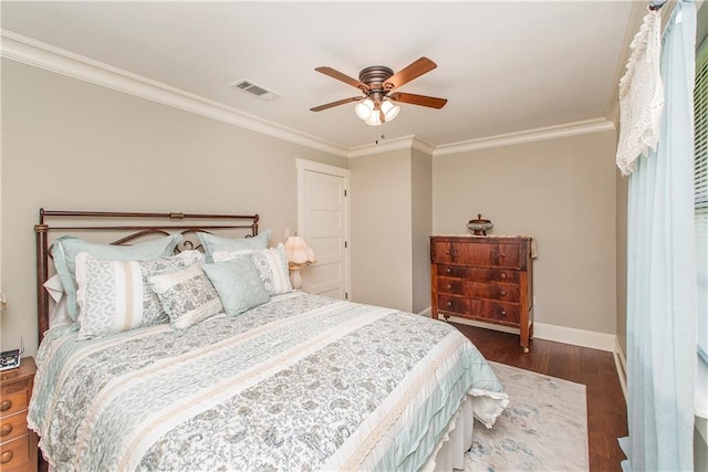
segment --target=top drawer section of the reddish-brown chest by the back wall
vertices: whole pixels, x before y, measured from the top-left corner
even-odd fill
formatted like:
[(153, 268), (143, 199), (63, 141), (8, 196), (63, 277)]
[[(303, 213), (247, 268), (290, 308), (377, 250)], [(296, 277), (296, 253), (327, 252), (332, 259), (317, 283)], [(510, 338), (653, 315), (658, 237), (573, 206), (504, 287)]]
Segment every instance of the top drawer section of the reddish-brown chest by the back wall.
[(430, 260), (437, 264), (520, 266), (519, 245), (511, 243), (433, 241)]

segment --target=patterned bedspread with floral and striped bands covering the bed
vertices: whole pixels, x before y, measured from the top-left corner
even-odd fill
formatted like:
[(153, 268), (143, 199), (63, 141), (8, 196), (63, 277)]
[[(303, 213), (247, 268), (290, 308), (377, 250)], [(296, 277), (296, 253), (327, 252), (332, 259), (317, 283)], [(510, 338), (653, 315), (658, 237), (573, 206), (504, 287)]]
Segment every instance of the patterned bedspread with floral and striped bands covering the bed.
[[(483, 357), (423, 316), (293, 292), (184, 331), (48, 332), (30, 427), (56, 470), (418, 470)], [(471, 421), (471, 419), (469, 419)]]

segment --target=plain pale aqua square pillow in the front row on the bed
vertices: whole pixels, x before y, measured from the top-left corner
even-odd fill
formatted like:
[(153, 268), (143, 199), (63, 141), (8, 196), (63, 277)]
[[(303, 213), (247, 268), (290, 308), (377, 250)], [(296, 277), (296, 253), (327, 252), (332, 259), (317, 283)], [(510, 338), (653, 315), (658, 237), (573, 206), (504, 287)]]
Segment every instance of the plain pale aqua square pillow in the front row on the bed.
[(270, 302), (270, 294), (263, 286), (249, 254), (230, 261), (205, 264), (201, 269), (219, 292), (223, 310), (229, 315), (235, 316)]

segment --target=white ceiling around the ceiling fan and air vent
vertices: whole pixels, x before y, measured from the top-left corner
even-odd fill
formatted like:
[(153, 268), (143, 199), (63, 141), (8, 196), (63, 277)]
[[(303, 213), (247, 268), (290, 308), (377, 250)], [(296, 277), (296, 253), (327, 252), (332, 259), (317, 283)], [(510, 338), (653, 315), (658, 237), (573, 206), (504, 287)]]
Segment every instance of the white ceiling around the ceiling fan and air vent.
[[(647, 2), (638, 6), (646, 11)], [(381, 135), (435, 146), (605, 118), (616, 102), (632, 1), (106, 2), (2, 1), (9, 31), (186, 91), (330, 145)], [(427, 56), (438, 67), (398, 91), (448, 98), (442, 109), (402, 104), (383, 130), (354, 104), (361, 93), (314, 71), (353, 77), (399, 71)], [(267, 102), (230, 85), (277, 92)]]

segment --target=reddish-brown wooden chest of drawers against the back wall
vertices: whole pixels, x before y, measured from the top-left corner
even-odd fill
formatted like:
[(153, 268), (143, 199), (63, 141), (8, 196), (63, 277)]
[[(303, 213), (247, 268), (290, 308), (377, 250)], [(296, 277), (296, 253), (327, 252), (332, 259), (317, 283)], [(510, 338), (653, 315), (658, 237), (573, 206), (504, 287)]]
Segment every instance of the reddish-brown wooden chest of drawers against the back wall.
[(533, 336), (533, 270), (528, 237), (430, 237), (433, 317), (459, 316)]

